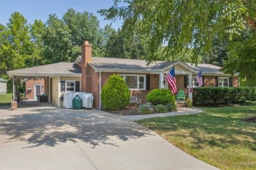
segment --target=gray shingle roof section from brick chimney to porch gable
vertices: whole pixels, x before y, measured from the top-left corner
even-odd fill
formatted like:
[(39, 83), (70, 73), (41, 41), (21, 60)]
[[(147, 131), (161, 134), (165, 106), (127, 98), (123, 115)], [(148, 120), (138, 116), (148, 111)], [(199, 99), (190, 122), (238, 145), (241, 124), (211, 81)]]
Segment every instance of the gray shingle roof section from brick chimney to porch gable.
[(92, 57), (92, 63), (90, 64), (96, 69), (153, 70), (163, 69), (175, 62), (177, 61), (156, 61), (147, 66), (146, 60)]

